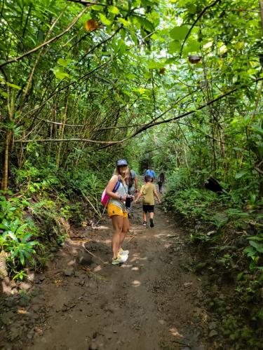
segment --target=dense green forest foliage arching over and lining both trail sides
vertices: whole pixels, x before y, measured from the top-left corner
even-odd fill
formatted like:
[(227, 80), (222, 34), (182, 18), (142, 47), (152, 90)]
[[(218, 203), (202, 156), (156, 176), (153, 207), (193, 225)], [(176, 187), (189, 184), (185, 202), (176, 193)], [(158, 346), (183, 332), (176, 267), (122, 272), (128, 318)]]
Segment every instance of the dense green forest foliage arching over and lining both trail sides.
[[(6, 0), (0, 13), (0, 247), (11, 276), (42, 268), (67, 221), (101, 215), (117, 158), (150, 164), (166, 172), (164, 209), (210, 252), (211, 279), (218, 267), (231, 277), (237, 311), (222, 314), (223, 332), (256, 349), (262, 1)], [(205, 190), (211, 176), (222, 195)]]

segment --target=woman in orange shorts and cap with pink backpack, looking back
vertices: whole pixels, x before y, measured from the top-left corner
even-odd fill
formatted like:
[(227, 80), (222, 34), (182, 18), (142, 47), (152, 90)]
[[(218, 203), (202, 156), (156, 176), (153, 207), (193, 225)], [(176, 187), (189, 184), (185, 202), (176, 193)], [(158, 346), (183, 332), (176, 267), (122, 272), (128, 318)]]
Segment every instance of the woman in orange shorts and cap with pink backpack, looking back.
[[(130, 228), (126, 207), (129, 207), (131, 200), (133, 200), (133, 196), (128, 195), (128, 177), (128, 162), (125, 159), (117, 160), (114, 175), (106, 187), (106, 193), (110, 197), (107, 211), (112, 219), (114, 230), (112, 235), (112, 265), (119, 265), (128, 259), (129, 251), (123, 251), (121, 248), (121, 244)], [(119, 187), (117, 185), (118, 181)], [(117, 189), (114, 192), (116, 185)]]

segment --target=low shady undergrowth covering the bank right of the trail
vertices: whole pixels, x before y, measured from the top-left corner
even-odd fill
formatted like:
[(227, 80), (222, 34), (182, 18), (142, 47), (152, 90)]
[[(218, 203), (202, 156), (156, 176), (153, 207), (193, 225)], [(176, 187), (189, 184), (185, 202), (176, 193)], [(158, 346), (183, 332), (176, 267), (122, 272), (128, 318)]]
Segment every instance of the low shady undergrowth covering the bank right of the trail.
[[(205, 190), (201, 176), (175, 170), (167, 181), (163, 209), (183, 218), (189, 243), (196, 254), (196, 272), (203, 269), (211, 283), (227, 289), (228, 311), (222, 305), (222, 334), (234, 349), (260, 349), (263, 327), (263, 214), (262, 199), (252, 188), (236, 188), (217, 195)], [(224, 184), (224, 188), (227, 185)], [(210, 292), (208, 292), (210, 293)], [(214, 295), (212, 300), (217, 299)]]

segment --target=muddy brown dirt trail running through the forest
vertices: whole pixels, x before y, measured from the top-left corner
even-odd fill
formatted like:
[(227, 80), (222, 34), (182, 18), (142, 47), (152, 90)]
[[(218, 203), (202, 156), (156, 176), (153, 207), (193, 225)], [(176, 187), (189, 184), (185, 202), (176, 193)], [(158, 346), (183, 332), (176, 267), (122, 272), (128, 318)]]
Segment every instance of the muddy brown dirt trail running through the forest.
[(29, 305), (20, 305), (24, 323), (15, 328), (29, 323), (30, 329), (2, 349), (215, 349), (203, 305), (205, 281), (186, 269), (191, 256), (184, 232), (159, 206), (154, 228), (144, 228), (141, 210), (135, 205), (122, 266), (108, 263), (109, 219), (95, 231), (72, 232), (32, 283)]

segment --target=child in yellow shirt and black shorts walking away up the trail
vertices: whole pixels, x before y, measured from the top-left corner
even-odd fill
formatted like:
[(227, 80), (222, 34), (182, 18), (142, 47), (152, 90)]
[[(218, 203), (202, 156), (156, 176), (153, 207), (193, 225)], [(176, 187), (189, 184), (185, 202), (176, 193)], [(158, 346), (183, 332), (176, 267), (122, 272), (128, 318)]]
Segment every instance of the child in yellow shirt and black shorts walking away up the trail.
[(151, 176), (145, 176), (145, 184), (142, 185), (140, 193), (135, 200), (137, 203), (142, 196), (142, 210), (143, 210), (143, 226), (147, 225), (147, 213), (150, 214), (150, 227), (154, 227), (154, 196), (157, 198), (158, 202), (161, 203), (159, 195), (156, 192), (154, 183), (151, 182)]

